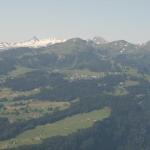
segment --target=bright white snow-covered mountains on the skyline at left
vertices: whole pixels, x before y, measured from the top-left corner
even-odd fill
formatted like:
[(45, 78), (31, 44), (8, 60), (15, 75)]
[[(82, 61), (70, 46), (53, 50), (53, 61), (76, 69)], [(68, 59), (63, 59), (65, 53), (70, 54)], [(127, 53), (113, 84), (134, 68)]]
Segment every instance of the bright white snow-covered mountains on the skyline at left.
[(66, 40), (58, 40), (56, 38), (48, 38), (39, 40), (36, 36), (32, 39), (24, 42), (0, 42), (0, 49), (11, 49), (11, 48), (19, 48), (19, 47), (30, 47), (30, 48), (39, 48), (46, 47), (48, 45), (52, 45), (55, 43), (65, 42)]

